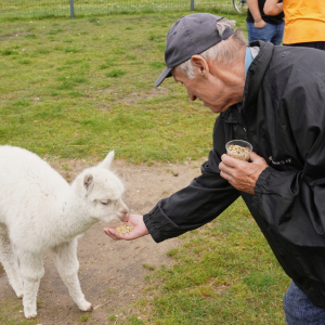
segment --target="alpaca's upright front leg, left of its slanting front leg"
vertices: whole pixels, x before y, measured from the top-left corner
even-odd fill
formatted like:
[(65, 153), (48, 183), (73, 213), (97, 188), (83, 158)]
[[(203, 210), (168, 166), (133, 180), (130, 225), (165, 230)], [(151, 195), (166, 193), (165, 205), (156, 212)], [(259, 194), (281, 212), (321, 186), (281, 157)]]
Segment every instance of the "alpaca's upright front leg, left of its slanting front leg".
[(37, 315), (37, 292), (41, 277), (44, 275), (42, 253), (17, 250), (20, 269), (24, 282), (24, 313), (26, 318)]

